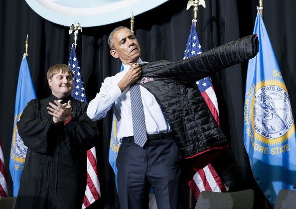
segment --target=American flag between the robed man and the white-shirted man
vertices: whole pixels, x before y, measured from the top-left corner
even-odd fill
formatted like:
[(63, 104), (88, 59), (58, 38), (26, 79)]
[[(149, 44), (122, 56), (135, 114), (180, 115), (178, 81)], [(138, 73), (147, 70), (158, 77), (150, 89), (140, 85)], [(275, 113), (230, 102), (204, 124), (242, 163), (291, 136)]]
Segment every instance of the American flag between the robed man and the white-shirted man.
[[(87, 97), (85, 95), (84, 84), (82, 81), (81, 70), (76, 56), (74, 43), (71, 47), (68, 66), (72, 69), (74, 74), (72, 97), (77, 99), (78, 101), (87, 103)], [(98, 176), (99, 173), (97, 168), (96, 147), (93, 147), (87, 151), (87, 184), (82, 209), (89, 207), (92, 203), (94, 203), (96, 200), (99, 200), (101, 197)]]

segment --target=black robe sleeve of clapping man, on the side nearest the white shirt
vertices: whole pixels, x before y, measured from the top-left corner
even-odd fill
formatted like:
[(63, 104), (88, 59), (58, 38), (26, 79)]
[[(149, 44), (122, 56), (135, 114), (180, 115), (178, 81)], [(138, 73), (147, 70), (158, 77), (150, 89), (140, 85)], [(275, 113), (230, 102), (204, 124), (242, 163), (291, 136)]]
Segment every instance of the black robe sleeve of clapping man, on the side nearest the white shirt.
[(76, 114), (64, 125), (65, 142), (70, 150), (88, 150), (95, 146), (98, 140), (98, 127), (86, 114), (87, 105), (78, 104)]

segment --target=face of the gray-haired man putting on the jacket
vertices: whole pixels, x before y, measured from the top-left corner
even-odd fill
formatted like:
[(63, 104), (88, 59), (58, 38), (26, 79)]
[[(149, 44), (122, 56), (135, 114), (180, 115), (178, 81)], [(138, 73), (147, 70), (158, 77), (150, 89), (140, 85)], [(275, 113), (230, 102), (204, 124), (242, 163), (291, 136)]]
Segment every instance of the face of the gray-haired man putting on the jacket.
[(110, 54), (120, 58), (124, 64), (133, 64), (140, 58), (140, 45), (135, 35), (127, 28), (114, 33), (114, 49)]

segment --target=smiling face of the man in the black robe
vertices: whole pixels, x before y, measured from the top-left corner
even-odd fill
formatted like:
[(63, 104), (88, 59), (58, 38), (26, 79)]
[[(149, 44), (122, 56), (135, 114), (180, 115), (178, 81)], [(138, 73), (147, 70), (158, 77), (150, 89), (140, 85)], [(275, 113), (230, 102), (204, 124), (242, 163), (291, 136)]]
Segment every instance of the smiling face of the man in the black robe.
[(58, 99), (65, 98), (72, 93), (73, 77), (68, 72), (60, 71), (51, 79), (48, 79), (48, 84), (51, 87), (51, 93)]

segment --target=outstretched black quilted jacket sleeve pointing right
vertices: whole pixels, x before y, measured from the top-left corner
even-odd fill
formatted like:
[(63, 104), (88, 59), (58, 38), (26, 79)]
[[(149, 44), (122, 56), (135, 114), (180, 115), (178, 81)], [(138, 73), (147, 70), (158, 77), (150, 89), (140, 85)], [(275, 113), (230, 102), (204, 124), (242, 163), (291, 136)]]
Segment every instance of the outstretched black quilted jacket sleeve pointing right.
[(167, 64), (152, 74), (180, 82), (197, 81), (211, 73), (255, 57), (259, 50), (258, 45), (258, 36), (249, 35), (203, 52), (198, 56)]

